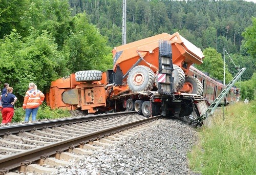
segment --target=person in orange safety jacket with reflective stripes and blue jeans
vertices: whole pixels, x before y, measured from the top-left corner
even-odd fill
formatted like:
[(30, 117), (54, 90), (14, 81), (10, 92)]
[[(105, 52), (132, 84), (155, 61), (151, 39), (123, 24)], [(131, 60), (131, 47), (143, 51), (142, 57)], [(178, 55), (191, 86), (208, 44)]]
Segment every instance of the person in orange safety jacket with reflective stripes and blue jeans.
[(29, 90), (26, 92), (23, 109), (26, 110), (25, 122), (29, 121), (29, 117), (32, 114), (32, 121), (36, 120), (36, 114), (39, 106), (45, 99), (45, 95), (37, 90), (35, 83), (29, 83)]

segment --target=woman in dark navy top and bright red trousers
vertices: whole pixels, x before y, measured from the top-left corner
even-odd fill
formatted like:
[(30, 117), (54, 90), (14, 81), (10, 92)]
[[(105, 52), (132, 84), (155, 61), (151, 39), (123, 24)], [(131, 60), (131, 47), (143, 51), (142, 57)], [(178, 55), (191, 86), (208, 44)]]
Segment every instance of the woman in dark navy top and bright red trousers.
[(6, 94), (2, 96), (2, 124), (6, 124), (12, 121), (12, 117), (14, 115), (14, 104), (18, 100), (15, 95), (12, 94), (13, 88), (8, 87)]

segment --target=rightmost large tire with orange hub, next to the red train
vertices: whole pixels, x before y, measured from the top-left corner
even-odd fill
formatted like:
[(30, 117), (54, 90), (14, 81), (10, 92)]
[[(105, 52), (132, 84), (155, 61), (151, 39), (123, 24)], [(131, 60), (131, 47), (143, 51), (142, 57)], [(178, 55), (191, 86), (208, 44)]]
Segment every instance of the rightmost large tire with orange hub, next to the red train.
[(193, 76), (186, 76), (185, 85), (189, 87), (189, 91), (186, 91), (186, 93), (203, 95), (203, 84), (199, 79)]

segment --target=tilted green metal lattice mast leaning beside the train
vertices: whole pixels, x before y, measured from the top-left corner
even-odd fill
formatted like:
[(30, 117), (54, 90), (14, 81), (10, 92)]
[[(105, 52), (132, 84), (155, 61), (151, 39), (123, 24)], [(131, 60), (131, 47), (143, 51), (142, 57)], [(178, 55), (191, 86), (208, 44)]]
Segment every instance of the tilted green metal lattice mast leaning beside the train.
[(225, 95), (229, 92), (229, 90), (232, 88), (234, 83), (241, 77), (241, 75), (244, 73), (246, 68), (242, 68), (236, 76), (228, 83), (228, 85), (224, 88), (224, 90), (220, 93), (220, 95), (210, 104), (210, 106), (207, 108), (206, 112), (198, 117), (194, 122), (197, 122), (197, 125), (200, 124), (203, 120), (205, 120), (208, 116), (214, 113), (217, 106), (220, 104), (221, 100)]

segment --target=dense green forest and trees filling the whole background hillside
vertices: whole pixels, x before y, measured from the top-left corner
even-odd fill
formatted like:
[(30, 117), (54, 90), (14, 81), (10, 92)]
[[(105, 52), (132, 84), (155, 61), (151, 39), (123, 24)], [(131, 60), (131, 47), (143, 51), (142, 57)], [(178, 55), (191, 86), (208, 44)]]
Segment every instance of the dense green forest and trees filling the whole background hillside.
[[(111, 50), (122, 44), (122, 1), (0, 2), (0, 81), (19, 102), (31, 81), (47, 92), (51, 81), (70, 73), (112, 69)], [(237, 72), (234, 64), (246, 67), (244, 97), (255, 96), (247, 91), (255, 89), (248, 83), (256, 76), (255, 16), (256, 4), (241, 0), (127, 0), (126, 42), (179, 32), (203, 51), (198, 68), (218, 79), (225, 49), (227, 80)]]

